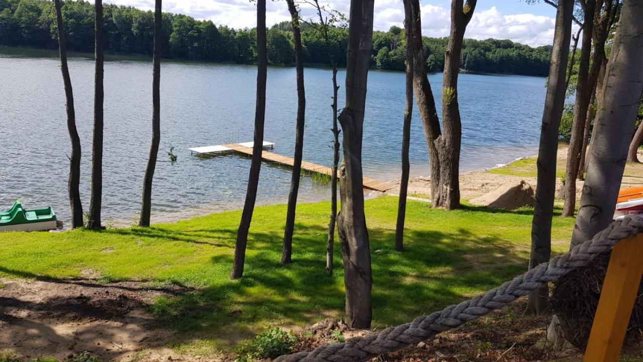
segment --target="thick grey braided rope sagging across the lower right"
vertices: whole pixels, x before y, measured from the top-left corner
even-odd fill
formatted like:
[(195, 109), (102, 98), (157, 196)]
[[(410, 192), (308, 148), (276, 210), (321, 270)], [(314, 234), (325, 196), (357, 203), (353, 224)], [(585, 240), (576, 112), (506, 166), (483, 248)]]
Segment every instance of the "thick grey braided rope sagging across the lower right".
[(317, 347), (310, 352), (299, 352), (275, 359), (275, 362), (349, 362), (366, 361), (373, 357), (393, 352), (408, 345), (416, 345), (433, 338), (440, 332), (460, 327), (467, 321), (478, 319), (493, 310), (526, 296), (550, 281), (588, 265), (595, 256), (608, 251), (619, 242), (643, 232), (643, 218), (624, 218), (613, 222), (592, 240), (577, 245), (571, 251), (552, 258), (530, 271), (507, 281), (496, 289), (450, 305), (430, 316), (415, 318), (411, 323), (390, 327), (377, 334), (351, 338), (345, 343)]

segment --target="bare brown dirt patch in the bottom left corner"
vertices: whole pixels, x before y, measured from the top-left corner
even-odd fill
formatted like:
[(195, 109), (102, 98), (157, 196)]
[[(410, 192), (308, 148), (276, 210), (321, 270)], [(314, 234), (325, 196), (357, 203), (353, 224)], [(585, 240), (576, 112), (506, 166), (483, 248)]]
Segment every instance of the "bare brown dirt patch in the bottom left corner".
[(106, 361), (181, 359), (164, 348), (172, 334), (155, 326), (149, 311), (154, 298), (183, 292), (180, 287), (91, 280), (0, 285), (0, 352), (59, 361), (85, 351)]

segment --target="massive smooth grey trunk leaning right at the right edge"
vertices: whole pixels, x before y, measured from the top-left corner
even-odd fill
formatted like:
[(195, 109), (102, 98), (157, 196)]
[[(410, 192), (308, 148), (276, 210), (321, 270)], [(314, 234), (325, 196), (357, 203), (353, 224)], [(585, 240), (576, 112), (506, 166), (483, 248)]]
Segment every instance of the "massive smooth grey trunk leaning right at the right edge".
[(610, 222), (619, 195), (631, 130), (643, 91), (643, 0), (624, 1), (607, 65), (592, 157), (576, 218), (572, 247)]

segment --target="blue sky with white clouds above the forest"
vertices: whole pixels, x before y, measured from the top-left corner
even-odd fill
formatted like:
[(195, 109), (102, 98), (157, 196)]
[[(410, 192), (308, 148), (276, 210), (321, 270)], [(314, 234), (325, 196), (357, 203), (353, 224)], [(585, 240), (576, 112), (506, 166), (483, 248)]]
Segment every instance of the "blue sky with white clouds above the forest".
[[(154, 0), (105, 0), (104, 3), (128, 5), (145, 10)], [(349, 0), (320, 0), (321, 5), (349, 14)], [(271, 26), (290, 19), (285, 1), (267, 1), (266, 24)], [(302, 17), (314, 16), (312, 6), (302, 4)], [(209, 19), (218, 25), (251, 28), (256, 25), (255, 3), (249, 0), (163, 0), (163, 11)], [(450, 1), (422, 0), (422, 35), (444, 37), (449, 33)], [(550, 45), (554, 38), (556, 9), (544, 2), (529, 5), (524, 0), (478, 0), (465, 37), (509, 39), (530, 46)], [(375, 0), (375, 30), (403, 26), (402, 0)]]

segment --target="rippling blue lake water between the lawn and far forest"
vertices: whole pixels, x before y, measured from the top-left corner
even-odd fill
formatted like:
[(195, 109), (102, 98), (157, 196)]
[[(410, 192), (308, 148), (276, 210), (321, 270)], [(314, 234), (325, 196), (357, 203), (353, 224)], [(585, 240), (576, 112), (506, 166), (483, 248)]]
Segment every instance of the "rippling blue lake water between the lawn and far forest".
[[(70, 59), (78, 132), (82, 142), (80, 191), (89, 207), (93, 61)], [(189, 147), (251, 141), (255, 111), (253, 66), (163, 62), (161, 148), (154, 175), (152, 221), (237, 209), (246, 191), (249, 158), (199, 158)], [(338, 73), (340, 108), (345, 73)], [(442, 74), (430, 76), (440, 109)], [(131, 224), (140, 211), (152, 118), (152, 66), (143, 61), (105, 64), (104, 220)], [(305, 70), (307, 95), (304, 160), (330, 165), (331, 71)], [(460, 75), (462, 171), (536, 153), (545, 99), (538, 77)], [(69, 138), (57, 59), (0, 55), (0, 205), (21, 199), (28, 207), (52, 205), (68, 223)], [(371, 71), (363, 162), (366, 176), (399, 178), (404, 73)], [(294, 68), (269, 68), (265, 139), (275, 153), (293, 155), (296, 113)], [(174, 147), (176, 164), (167, 152)], [(417, 110), (411, 138), (412, 175), (428, 175), (428, 152)], [(259, 204), (287, 200), (291, 171), (264, 164)], [(302, 179), (300, 201), (326, 200), (330, 186)], [(105, 221), (104, 221), (105, 222)]]

